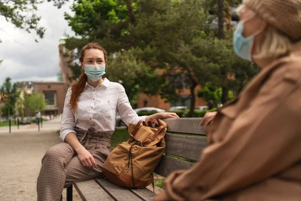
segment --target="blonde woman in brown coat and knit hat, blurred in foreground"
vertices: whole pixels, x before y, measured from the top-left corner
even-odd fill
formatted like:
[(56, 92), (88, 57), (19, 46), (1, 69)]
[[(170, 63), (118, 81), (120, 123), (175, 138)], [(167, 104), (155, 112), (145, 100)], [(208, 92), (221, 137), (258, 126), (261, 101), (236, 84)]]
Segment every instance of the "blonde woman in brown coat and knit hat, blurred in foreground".
[(261, 72), (208, 113), (209, 146), (155, 200), (301, 199), (301, 0), (244, 0), (234, 50)]

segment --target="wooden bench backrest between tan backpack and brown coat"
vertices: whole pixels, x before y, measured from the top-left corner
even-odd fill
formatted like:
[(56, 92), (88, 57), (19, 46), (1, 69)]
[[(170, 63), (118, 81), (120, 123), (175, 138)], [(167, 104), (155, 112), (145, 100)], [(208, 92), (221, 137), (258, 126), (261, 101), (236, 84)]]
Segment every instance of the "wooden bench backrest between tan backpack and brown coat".
[[(202, 118), (164, 120), (168, 125), (167, 132), (171, 134), (166, 134), (165, 136), (166, 155), (162, 157), (155, 169), (155, 173), (167, 177), (175, 170), (188, 169), (194, 165), (194, 162), (199, 159), (202, 150), (207, 146), (205, 130), (203, 127), (200, 127), (201, 121)], [(176, 157), (170, 157), (169, 155)]]

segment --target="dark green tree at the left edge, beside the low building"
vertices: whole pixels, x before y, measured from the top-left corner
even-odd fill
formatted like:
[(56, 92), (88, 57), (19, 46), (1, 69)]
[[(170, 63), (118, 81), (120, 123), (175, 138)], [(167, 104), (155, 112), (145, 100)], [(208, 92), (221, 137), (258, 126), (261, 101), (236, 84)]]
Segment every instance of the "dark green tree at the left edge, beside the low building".
[(10, 117), (11, 114), (15, 113), (15, 104), (17, 98), (20, 96), (20, 92), (18, 91), (17, 83), (12, 84), (12, 79), (7, 77), (5, 82), (0, 88), (0, 96), (2, 100), (5, 101), (5, 105), (2, 108), (2, 112), (4, 116)]

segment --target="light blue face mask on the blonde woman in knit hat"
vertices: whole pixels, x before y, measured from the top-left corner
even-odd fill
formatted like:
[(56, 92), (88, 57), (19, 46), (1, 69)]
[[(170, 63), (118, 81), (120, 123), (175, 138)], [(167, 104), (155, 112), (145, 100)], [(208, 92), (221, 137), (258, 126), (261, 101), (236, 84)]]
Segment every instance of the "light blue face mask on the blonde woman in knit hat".
[[(253, 16), (254, 17), (254, 16)], [(252, 17), (252, 18), (253, 18)], [(251, 19), (251, 18), (250, 18)], [(250, 20), (248, 19), (248, 20)], [(246, 20), (246, 21), (248, 21)], [(254, 45), (254, 38), (258, 35), (262, 30), (256, 32), (250, 37), (245, 38), (242, 33), (244, 30), (244, 24), (246, 21), (240, 21), (237, 24), (234, 36), (233, 36), (233, 46), (235, 53), (242, 59), (252, 61), (252, 49)]]

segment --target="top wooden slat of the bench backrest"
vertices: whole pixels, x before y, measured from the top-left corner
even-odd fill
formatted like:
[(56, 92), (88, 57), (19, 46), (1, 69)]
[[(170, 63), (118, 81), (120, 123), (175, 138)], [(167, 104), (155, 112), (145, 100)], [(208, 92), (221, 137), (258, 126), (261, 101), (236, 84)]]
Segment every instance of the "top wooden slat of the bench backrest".
[(183, 133), (192, 135), (205, 135), (204, 127), (200, 126), (203, 118), (180, 118), (180, 119), (164, 119), (167, 123), (167, 132)]

